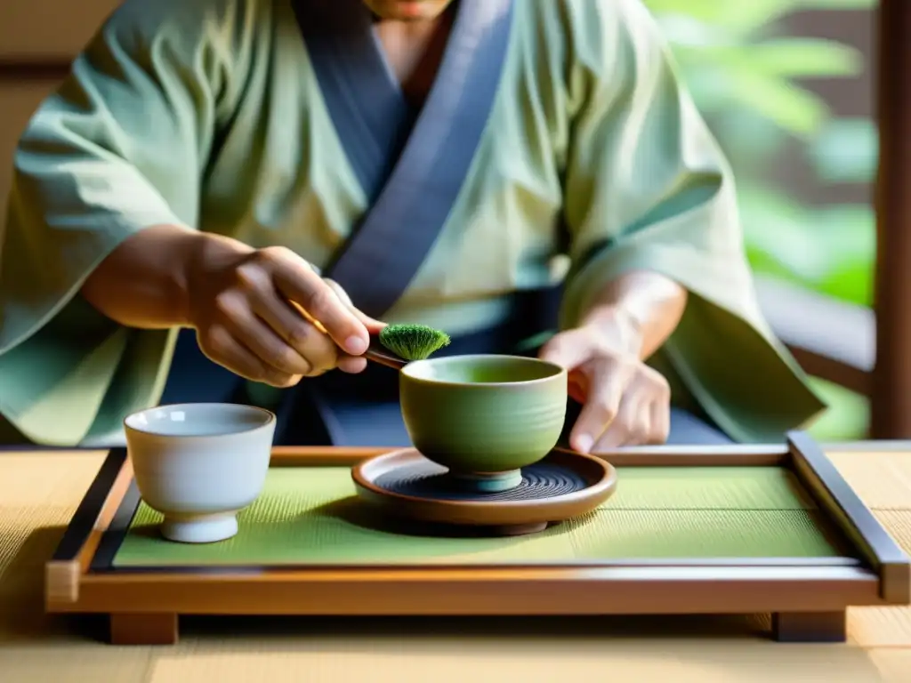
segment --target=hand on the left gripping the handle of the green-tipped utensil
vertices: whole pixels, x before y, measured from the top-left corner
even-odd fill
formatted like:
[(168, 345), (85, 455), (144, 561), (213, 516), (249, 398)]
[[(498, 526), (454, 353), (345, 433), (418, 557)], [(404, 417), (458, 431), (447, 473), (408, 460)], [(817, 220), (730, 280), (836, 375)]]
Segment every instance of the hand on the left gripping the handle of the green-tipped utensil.
[(289, 387), (336, 367), (362, 372), (370, 334), (383, 327), (281, 247), (217, 239), (200, 250), (187, 279), (201, 351), (255, 382)]

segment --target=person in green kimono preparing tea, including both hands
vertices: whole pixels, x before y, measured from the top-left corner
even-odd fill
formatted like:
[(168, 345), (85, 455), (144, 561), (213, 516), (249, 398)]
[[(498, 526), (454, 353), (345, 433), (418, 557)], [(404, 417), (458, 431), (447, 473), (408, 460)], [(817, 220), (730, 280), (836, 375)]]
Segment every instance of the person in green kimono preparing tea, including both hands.
[(246, 401), (280, 443), (407, 443), (362, 356), (393, 321), (453, 353), (552, 331), (584, 452), (824, 407), (640, 0), (127, 0), (29, 122), (0, 235), (9, 439)]

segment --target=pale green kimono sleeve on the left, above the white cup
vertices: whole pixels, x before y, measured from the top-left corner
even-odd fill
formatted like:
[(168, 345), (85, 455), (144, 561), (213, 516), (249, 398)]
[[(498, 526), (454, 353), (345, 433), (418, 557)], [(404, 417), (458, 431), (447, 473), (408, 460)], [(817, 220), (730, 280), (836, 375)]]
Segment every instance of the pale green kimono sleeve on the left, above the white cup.
[(5, 432), (73, 445), (157, 400), (174, 331), (123, 328), (79, 291), (138, 230), (197, 227), (242, 21), (229, 0), (128, 0), (28, 123), (0, 225)]

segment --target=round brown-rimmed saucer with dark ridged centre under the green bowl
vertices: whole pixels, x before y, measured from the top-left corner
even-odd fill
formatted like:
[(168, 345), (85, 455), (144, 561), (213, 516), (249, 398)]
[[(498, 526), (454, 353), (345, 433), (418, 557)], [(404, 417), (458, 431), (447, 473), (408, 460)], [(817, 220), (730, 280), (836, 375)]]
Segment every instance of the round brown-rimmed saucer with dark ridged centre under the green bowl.
[(585, 515), (617, 488), (617, 472), (597, 457), (554, 451), (524, 467), (507, 491), (466, 488), (414, 448), (379, 455), (353, 468), (357, 494), (395, 517), (444, 525), (487, 527), (492, 535), (541, 531)]

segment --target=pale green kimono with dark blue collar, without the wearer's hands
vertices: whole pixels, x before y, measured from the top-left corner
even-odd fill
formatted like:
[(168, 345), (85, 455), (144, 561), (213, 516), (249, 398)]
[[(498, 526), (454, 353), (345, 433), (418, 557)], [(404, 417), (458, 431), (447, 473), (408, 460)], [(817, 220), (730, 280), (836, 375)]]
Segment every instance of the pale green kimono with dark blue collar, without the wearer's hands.
[[(7, 431), (85, 443), (159, 401), (177, 331), (118, 326), (79, 290), (166, 223), (287, 246), (368, 312), (454, 335), (563, 279), (571, 327), (610, 280), (658, 271), (691, 292), (651, 361), (675, 402), (740, 441), (824, 407), (763, 321), (731, 169), (639, 0), (463, 0), (421, 112), (369, 26), (324, 37), (322, 5), (127, 0), (38, 109), (0, 233)], [(413, 242), (404, 280), (357, 280), (399, 277)]]

